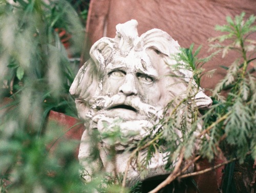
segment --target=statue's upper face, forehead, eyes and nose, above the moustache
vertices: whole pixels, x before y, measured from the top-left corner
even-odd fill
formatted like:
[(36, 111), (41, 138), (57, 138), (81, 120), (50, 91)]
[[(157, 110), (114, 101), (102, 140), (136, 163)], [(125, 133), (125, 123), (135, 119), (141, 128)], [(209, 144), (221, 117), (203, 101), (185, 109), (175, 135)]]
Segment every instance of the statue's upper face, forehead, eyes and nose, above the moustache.
[(148, 55), (132, 52), (106, 67), (102, 94), (139, 97), (144, 103), (158, 104), (161, 97), (158, 77), (159, 72)]

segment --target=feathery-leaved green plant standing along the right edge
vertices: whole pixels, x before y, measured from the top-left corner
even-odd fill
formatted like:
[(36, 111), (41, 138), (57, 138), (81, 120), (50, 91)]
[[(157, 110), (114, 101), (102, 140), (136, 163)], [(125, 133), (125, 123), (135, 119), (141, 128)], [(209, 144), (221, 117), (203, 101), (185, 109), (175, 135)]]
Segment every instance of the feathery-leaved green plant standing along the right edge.
[[(227, 98), (219, 103), (222, 109), (218, 109), (217, 114), (219, 120), (223, 117), (225, 119), (216, 124), (215, 129), (224, 131), (223, 135), (226, 136), (227, 144), (231, 145), (233, 156), (236, 155), (240, 162), (245, 160), (248, 153), (255, 155), (255, 76), (251, 74), (253, 71), (248, 70), (248, 64), (255, 60), (252, 56), (256, 47), (248, 38), (251, 33), (256, 32), (256, 17), (251, 15), (247, 20), (243, 20), (244, 16), (245, 13), (242, 13), (234, 20), (227, 17), (228, 25), (217, 26), (216, 29), (228, 34), (212, 39), (219, 40), (224, 45), (211, 45), (212, 48), (221, 49), (223, 56), (231, 49), (240, 54), (227, 68), (226, 77), (218, 83), (213, 92), (216, 97), (222, 89), (229, 89)], [(226, 46), (226, 41), (231, 43)], [(215, 109), (215, 106), (212, 106), (212, 109)]]

